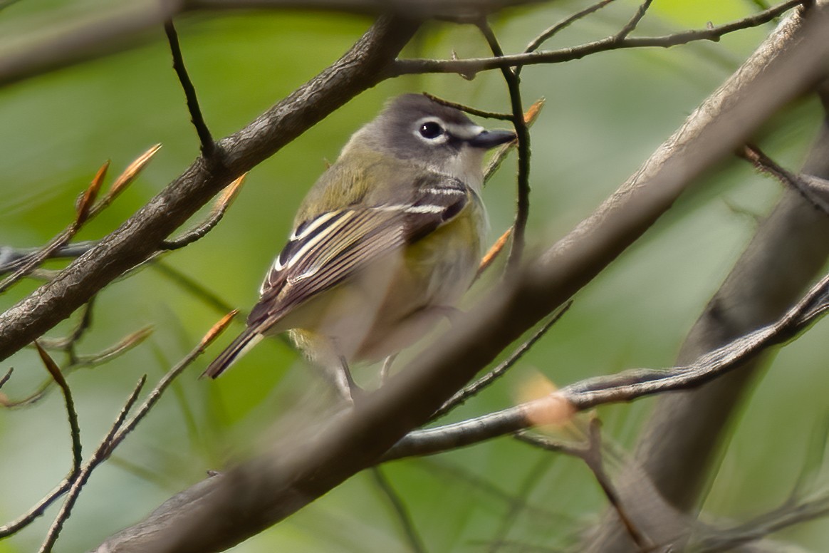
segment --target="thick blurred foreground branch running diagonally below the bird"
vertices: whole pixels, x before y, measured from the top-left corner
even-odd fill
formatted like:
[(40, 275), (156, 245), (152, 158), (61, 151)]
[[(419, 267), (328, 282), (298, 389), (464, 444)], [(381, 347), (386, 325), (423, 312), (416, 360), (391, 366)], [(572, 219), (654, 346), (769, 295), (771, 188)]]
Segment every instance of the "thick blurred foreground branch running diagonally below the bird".
[[(592, 279), (694, 178), (728, 155), (827, 71), (829, 7), (783, 27), (697, 109), (593, 216), (502, 284), (434, 347), (352, 410), (298, 429), (274, 450), (173, 497), (98, 551), (221, 551), (377, 462), (528, 327)], [(308, 423), (310, 424), (310, 423)]]

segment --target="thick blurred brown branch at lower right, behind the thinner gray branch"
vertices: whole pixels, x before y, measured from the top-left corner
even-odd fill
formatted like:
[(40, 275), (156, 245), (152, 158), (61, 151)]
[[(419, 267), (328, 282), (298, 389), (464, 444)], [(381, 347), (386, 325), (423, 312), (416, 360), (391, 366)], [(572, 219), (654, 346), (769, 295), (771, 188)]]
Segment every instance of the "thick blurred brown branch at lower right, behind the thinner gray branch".
[[(778, 34), (788, 33), (790, 24), (785, 23)], [(826, 85), (820, 90), (826, 108)], [(802, 173), (801, 178), (829, 177), (829, 119), (824, 120)], [(696, 322), (677, 363), (719, 347), (783, 313), (826, 263), (827, 235), (826, 214), (798, 192), (784, 192)], [(644, 468), (662, 497), (681, 510), (693, 512), (701, 501), (712, 466), (718, 463), (720, 442), (729, 428), (727, 421), (740, 405), (762, 361), (763, 357), (759, 357), (747, 362), (739, 371), (699, 390), (661, 398), (638, 445), (636, 469), (628, 476), (623, 474), (620, 486), (635, 493), (639, 470)], [(677, 432), (677, 428), (682, 431)], [(651, 508), (646, 502), (635, 501), (634, 504), (642, 509), (638, 517), (652, 524), (653, 530), (668, 528), (659, 517), (660, 506)], [(636, 551), (629, 541), (620, 539), (622, 532), (613, 521), (613, 513), (609, 513), (597, 529), (589, 551)]]

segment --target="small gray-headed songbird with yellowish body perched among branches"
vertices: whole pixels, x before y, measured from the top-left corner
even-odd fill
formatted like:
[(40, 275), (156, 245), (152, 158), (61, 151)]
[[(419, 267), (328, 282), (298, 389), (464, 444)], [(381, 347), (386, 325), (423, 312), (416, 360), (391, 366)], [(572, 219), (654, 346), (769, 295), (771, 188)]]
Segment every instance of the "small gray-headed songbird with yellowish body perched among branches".
[(487, 231), (483, 154), (515, 138), (425, 95), (390, 100), (308, 192), (248, 327), (202, 376), (290, 331), (350, 397), (349, 363), (400, 352), (472, 284)]

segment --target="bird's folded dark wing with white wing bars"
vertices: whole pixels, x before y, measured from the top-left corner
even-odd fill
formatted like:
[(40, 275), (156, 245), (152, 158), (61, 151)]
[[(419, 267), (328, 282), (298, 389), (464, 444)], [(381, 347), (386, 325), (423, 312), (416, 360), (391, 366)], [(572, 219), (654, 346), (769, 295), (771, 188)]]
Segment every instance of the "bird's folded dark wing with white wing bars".
[(416, 185), (405, 203), (349, 206), (298, 225), (264, 279), (248, 325), (265, 332), (300, 303), (452, 220), (472, 193), (442, 175)]

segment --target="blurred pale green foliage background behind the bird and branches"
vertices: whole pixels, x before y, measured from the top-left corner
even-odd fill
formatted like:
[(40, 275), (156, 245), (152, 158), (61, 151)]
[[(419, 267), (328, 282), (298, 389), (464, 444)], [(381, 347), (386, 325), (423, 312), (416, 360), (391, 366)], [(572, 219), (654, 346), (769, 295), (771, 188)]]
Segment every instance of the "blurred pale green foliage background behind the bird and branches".
[[(0, 36), (94, 10), (102, 2), (17, 2), (0, 10)], [(545, 27), (585, 2), (549, 2), (493, 19), (506, 51), (518, 51)], [(617, 31), (636, 3), (620, 1), (556, 36), (548, 46), (577, 44)], [(639, 27), (663, 34), (726, 22), (757, 9), (748, 0), (655, 2)], [(224, 136), (346, 51), (370, 21), (321, 12), (213, 12), (177, 20), (187, 68), (211, 131)], [(530, 242), (541, 249), (598, 205), (768, 34), (764, 26), (719, 43), (670, 50), (616, 51), (522, 73), (526, 104), (547, 105), (532, 129)], [(432, 24), (406, 56), (485, 56), (473, 27)], [(162, 29), (143, 46), (42, 75), (0, 90), (0, 244), (41, 245), (73, 216), (74, 201), (100, 163), (116, 174), (153, 143), (162, 151), (132, 187), (80, 238), (117, 228), (172, 181), (197, 153), (182, 90), (170, 68)], [(225, 220), (204, 240), (163, 263), (225, 302), (250, 308), (304, 192), (337, 157), (348, 136), (385, 98), (406, 91), (507, 110), (493, 71), (468, 82), (457, 75), (386, 81), (256, 167)], [(759, 143), (778, 162), (797, 167), (821, 110), (803, 99), (769, 124)], [(492, 239), (511, 223), (513, 164), (486, 191)], [(110, 177), (112, 178), (112, 177)], [(633, 366), (670, 366), (705, 302), (749, 240), (754, 216), (768, 211), (779, 186), (739, 161), (725, 163), (681, 198), (631, 250), (575, 298), (574, 307), (502, 383), (451, 415), (453, 420), (515, 402), (516, 386), (541, 371), (558, 385)], [(61, 264), (51, 264), (52, 267)], [(7, 308), (34, 289), (24, 282), (0, 298)], [(473, 296), (486, 284), (478, 285)], [(96, 352), (152, 324), (133, 352), (70, 377), (85, 452), (95, 448), (138, 377), (158, 379), (223, 313), (167, 274), (145, 268), (100, 294), (82, 352)], [(53, 334), (60, 334), (61, 329)], [(232, 332), (232, 329), (231, 331)], [(778, 355), (745, 405), (705, 508), (739, 520), (777, 505), (802, 463), (812, 429), (826, 416), (827, 323)], [(416, 350), (416, 347), (414, 348)], [(217, 352), (217, 348), (210, 353)], [(58, 361), (62, 361), (58, 359)], [(269, 421), (321, 386), (284, 343), (269, 341), (220, 381), (198, 381), (191, 367), (114, 458), (91, 478), (57, 551), (83, 551), (143, 517), (173, 492), (260, 446)], [(46, 378), (32, 350), (2, 364), (15, 373), (2, 390), (26, 395)], [(364, 369), (358, 376), (370, 378)], [(606, 436), (629, 447), (652, 405), (599, 410)], [(266, 435), (266, 434), (265, 434)], [(9, 521), (48, 492), (70, 465), (61, 396), (0, 410), (0, 520)], [(571, 543), (605, 507), (579, 461), (499, 439), (435, 458), (390, 463), (385, 474), (403, 497), (428, 551), (536, 551)], [(35, 551), (56, 507), (6, 541), (0, 553)], [(825, 522), (785, 537), (819, 551)], [(367, 474), (314, 502), (288, 521), (232, 551), (409, 551), (387, 498)], [(538, 550), (547, 551), (547, 550)]]

